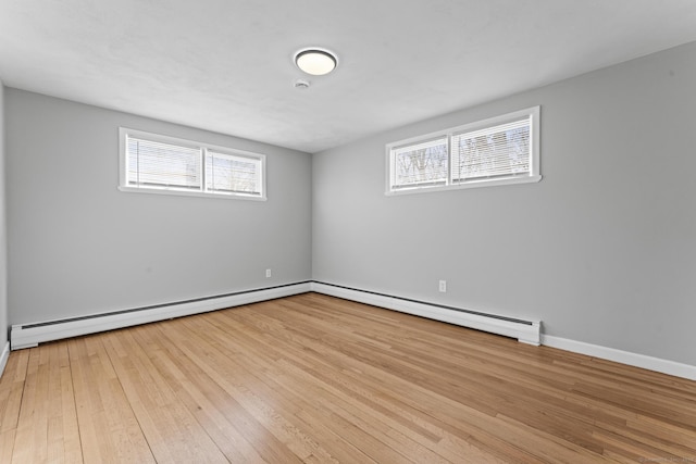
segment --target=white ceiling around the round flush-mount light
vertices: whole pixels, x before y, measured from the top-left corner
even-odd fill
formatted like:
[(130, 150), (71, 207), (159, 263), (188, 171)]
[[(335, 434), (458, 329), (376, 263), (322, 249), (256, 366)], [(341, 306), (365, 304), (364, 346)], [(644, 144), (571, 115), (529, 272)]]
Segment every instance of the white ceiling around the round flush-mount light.
[(9, 87), (307, 152), (694, 40), (695, 0), (0, 0)]

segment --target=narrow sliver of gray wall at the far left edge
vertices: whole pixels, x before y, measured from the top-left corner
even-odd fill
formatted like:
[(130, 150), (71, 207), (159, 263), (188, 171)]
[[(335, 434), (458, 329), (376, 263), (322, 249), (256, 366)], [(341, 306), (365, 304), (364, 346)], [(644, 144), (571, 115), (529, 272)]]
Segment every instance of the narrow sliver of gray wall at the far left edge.
[(8, 235), (5, 220), (4, 86), (0, 80), (0, 351), (8, 342)]

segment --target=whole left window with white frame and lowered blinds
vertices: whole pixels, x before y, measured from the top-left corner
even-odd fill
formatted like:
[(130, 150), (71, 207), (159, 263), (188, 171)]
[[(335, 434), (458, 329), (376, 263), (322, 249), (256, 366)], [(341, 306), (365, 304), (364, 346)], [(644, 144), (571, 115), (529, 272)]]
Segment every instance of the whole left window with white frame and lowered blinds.
[(120, 129), (122, 191), (265, 200), (265, 156)]

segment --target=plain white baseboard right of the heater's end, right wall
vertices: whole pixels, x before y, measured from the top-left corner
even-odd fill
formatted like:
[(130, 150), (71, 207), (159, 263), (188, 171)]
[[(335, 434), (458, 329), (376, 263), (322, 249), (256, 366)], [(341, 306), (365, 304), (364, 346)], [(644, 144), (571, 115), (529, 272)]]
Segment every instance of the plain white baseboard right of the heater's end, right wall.
[(660, 358), (646, 356), (645, 354), (632, 353), (630, 351), (617, 350), (598, 344), (569, 340), (567, 338), (554, 337), (550, 335), (542, 335), (542, 344), (558, 348), (560, 350), (572, 351), (573, 353), (613, 361), (633, 367), (641, 367), (648, 371), (687, 378), (689, 380), (696, 380), (696, 366), (688, 364), (662, 360)]

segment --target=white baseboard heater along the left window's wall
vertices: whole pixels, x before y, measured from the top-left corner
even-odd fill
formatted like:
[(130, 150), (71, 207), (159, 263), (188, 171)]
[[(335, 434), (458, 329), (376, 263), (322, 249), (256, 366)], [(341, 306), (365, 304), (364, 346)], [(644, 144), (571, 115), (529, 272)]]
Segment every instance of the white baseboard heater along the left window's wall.
[(103, 315), (95, 314), (94, 316), (83, 318), (13, 325), (10, 331), (10, 344), (12, 350), (18, 350), (22, 348), (36, 347), (38, 343), (45, 341), (60, 340), (138, 324), (171, 319), (173, 317), (206, 313), (225, 308), (239, 306), (241, 304), (306, 293), (308, 291), (310, 291), (310, 283), (301, 283), (190, 302), (147, 308), (138, 311)]

